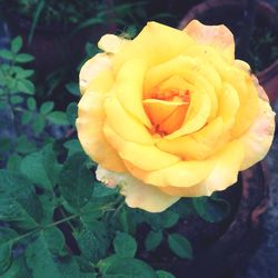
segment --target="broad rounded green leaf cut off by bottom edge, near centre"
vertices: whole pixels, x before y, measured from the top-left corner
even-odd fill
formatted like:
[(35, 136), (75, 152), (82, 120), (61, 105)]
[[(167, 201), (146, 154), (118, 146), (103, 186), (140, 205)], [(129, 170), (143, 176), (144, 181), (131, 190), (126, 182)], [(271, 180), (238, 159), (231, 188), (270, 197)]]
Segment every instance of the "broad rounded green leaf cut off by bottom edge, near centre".
[(103, 278), (112, 277), (157, 278), (155, 270), (149, 265), (133, 258), (115, 260), (103, 275)]

